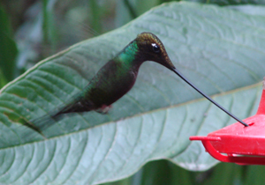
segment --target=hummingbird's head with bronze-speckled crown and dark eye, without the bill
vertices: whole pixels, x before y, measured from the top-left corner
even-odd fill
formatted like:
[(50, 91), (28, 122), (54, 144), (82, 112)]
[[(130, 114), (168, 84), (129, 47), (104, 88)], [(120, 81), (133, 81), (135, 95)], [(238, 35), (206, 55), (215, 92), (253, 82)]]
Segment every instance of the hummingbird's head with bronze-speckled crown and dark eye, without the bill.
[(170, 61), (162, 41), (160, 41), (153, 33), (140, 33), (135, 39), (139, 48), (138, 57), (142, 61), (154, 61), (160, 63), (170, 70), (175, 70), (175, 66)]

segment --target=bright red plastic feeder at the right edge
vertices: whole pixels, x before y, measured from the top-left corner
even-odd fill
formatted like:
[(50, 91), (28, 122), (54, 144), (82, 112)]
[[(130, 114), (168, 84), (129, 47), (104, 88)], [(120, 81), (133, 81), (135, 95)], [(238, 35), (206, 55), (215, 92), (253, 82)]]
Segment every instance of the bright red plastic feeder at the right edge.
[(236, 122), (207, 137), (190, 137), (190, 140), (201, 140), (206, 151), (222, 162), (265, 165), (265, 78), (258, 111), (244, 122), (249, 127)]

